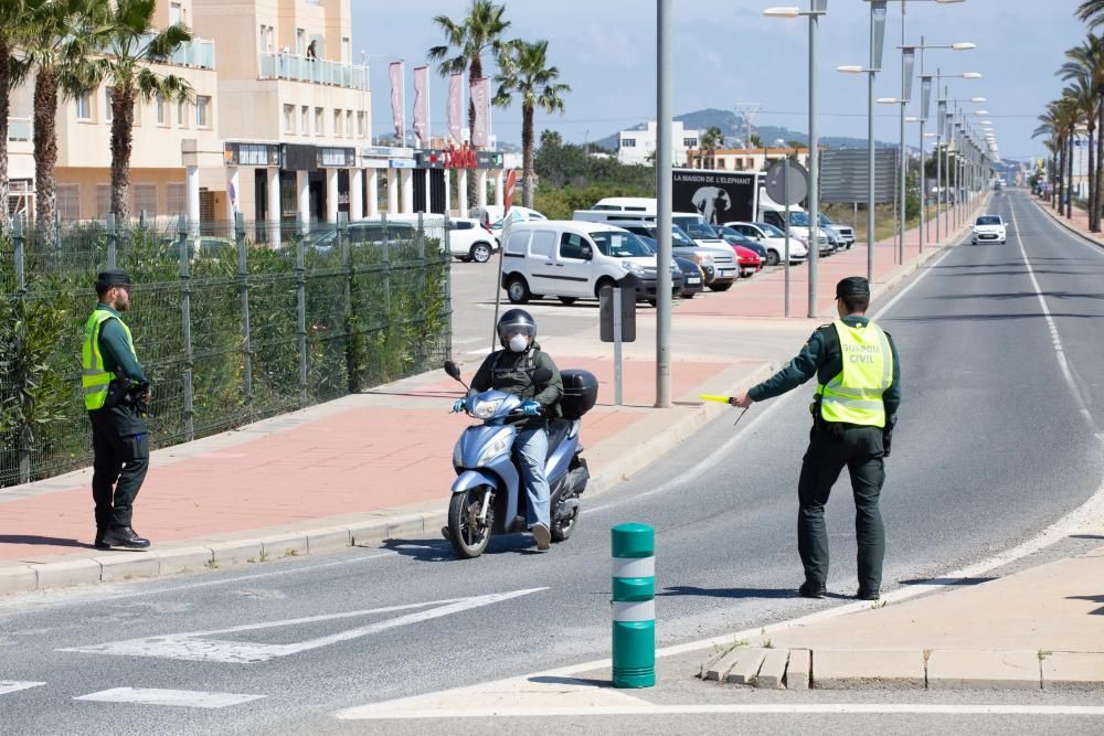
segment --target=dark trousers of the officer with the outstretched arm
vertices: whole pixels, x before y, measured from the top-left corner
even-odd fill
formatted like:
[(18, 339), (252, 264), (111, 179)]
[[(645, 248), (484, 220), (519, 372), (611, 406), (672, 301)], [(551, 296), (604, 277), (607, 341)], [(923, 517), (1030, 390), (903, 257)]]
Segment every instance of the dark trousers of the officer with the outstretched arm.
[(805, 566), (805, 579), (824, 586), (828, 579), (828, 532), (825, 504), (843, 468), (851, 476), (854, 492), (854, 537), (858, 543), (859, 587), (879, 590), (885, 530), (878, 499), (885, 481), (880, 427), (815, 427), (802, 462), (797, 487), (797, 550)]

